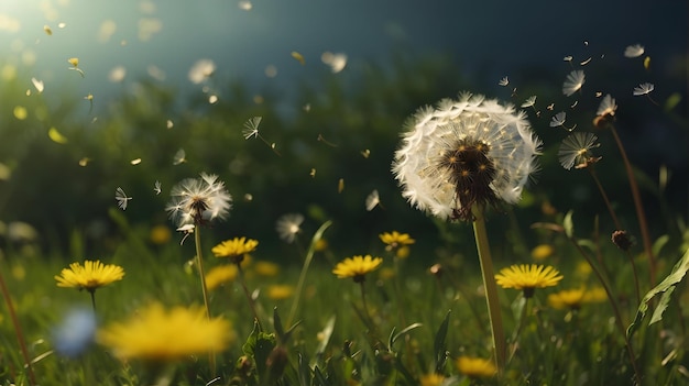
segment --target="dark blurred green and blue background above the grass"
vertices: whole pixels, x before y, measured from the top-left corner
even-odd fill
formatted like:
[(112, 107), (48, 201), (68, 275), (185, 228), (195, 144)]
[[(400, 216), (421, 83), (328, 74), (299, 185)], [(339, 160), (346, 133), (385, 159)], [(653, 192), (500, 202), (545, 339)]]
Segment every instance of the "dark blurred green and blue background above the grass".
[[(280, 260), (275, 221), (298, 212), (307, 238), (333, 221), (339, 257), (370, 253), (392, 230), (433, 254), (471, 230), (411, 208), (390, 165), (406, 118), (462, 90), (517, 108), (537, 96), (524, 110), (545, 143), (538, 183), (490, 228), (528, 247), (528, 225), (555, 208), (590, 214), (582, 232), (597, 213), (611, 230), (588, 173), (557, 161), (568, 133), (549, 125), (566, 111), (568, 125), (594, 130), (600, 96), (611, 93), (654, 236), (677, 232), (689, 201), (687, 14), (676, 0), (2, 0), (2, 246), (67, 260), (112, 254), (124, 238), (178, 249), (169, 188), (206, 172), (234, 199), (209, 245), (245, 235)], [(626, 57), (636, 44), (643, 54)], [(566, 97), (573, 69), (586, 84)], [(644, 82), (654, 91), (633, 96)], [(261, 137), (244, 139), (253, 117)], [(597, 134), (599, 174), (638, 234), (620, 153), (610, 133)], [(123, 211), (118, 187), (132, 197)], [(381, 205), (367, 210), (373, 191)]]

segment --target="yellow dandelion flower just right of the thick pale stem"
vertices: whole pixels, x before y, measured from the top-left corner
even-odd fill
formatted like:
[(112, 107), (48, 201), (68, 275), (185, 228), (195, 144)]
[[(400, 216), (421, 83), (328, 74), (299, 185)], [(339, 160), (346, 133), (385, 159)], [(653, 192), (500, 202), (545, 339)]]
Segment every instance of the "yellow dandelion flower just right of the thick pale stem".
[(503, 288), (523, 289), (524, 297), (529, 298), (534, 294), (534, 288), (556, 286), (562, 279), (560, 273), (551, 266), (543, 265), (512, 265), (502, 268), (495, 275), (497, 285)]

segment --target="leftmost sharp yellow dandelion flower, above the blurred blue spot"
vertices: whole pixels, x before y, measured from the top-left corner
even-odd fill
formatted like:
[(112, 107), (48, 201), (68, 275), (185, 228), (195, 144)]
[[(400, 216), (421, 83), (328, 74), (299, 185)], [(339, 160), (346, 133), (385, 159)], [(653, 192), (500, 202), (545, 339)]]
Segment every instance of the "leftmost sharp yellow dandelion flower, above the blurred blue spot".
[(86, 289), (95, 291), (96, 288), (107, 286), (108, 284), (121, 280), (124, 276), (124, 269), (119, 265), (102, 264), (100, 261), (85, 261), (81, 263), (72, 263), (69, 268), (64, 268), (59, 276), (55, 276), (58, 287)]

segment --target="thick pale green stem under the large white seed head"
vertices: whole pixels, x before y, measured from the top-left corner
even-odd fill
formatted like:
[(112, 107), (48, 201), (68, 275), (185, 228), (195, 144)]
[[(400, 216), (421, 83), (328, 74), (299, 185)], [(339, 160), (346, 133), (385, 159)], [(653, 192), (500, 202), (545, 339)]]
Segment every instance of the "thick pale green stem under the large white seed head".
[(495, 283), (495, 275), (493, 273), (493, 262), (491, 258), (490, 244), (488, 242), (483, 209), (483, 207), (478, 206), (472, 208), (474, 217), (473, 234), (477, 241), (479, 262), (481, 263), (481, 274), (483, 275), (483, 287), (485, 289), (485, 301), (488, 304), (488, 317), (491, 322), (493, 346), (495, 349), (495, 365), (499, 372), (502, 372), (505, 368), (505, 333), (502, 326), (500, 299), (497, 298), (497, 284)]

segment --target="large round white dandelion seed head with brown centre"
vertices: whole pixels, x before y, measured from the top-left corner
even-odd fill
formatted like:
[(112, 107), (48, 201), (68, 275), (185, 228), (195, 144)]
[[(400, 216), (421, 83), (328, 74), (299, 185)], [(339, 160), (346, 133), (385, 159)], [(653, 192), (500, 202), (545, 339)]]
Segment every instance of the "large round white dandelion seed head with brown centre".
[(540, 144), (524, 112), (462, 93), (407, 121), (392, 172), (413, 206), (470, 221), (474, 205), (520, 200)]

